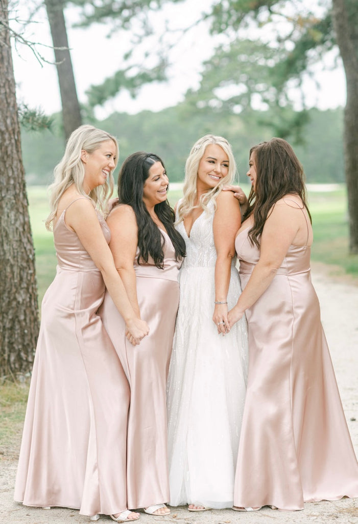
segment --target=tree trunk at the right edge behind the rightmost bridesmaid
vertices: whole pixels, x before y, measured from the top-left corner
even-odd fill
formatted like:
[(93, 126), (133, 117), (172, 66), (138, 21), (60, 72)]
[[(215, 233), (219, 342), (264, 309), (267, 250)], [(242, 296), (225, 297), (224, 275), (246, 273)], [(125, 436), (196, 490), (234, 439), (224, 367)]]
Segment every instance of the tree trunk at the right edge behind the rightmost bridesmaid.
[(334, 30), (347, 80), (343, 143), (351, 254), (358, 253), (358, 13), (355, 2), (356, 0), (333, 0), (332, 10)]

